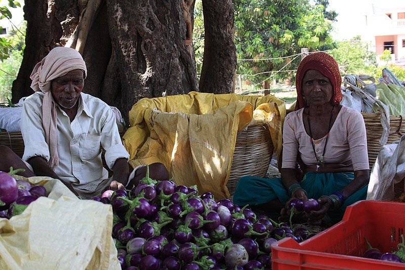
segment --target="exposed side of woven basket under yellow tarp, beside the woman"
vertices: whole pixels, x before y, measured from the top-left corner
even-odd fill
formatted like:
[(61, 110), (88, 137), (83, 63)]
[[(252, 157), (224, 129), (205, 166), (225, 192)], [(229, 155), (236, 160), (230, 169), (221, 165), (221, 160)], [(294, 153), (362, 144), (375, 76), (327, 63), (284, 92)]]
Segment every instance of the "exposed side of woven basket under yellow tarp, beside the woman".
[(250, 126), (236, 136), (228, 187), (232, 196), (243, 176), (266, 176), (274, 146), (267, 126)]

